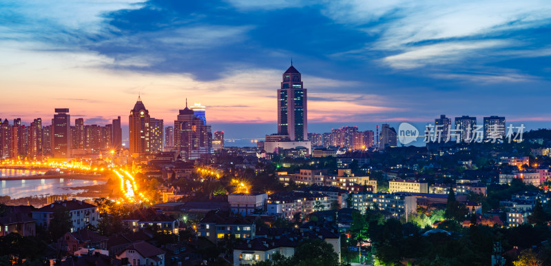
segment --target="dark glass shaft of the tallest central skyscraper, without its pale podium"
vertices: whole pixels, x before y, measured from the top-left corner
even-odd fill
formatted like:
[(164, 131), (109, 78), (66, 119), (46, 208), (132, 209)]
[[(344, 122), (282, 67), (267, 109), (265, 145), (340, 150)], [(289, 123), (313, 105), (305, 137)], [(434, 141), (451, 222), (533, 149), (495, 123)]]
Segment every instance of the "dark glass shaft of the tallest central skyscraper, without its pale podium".
[(307, 96), (300, 72), (291, 66), (283, 73), (278, 90), (278, 134), (290, 141), (308, 139)]

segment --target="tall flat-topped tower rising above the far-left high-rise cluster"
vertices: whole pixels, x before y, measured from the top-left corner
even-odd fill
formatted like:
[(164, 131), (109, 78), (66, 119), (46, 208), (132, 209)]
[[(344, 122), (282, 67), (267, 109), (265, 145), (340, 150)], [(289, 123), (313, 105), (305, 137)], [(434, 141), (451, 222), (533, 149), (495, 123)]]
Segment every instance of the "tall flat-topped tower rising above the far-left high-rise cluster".
[(52, 154), (54, 158), (71, 156), (71, 116), (69, 108), (56, 108), (52, 120)]

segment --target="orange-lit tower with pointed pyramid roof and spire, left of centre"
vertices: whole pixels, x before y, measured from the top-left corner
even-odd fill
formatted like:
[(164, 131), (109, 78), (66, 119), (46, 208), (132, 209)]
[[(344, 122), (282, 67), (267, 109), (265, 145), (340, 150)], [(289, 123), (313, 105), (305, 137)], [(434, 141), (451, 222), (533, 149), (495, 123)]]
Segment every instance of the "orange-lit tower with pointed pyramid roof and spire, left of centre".
[(149, 152), (149, 111), (145, 109), (140, 96), (130, 110), (128, 119), (130, 154), (140, 156)]

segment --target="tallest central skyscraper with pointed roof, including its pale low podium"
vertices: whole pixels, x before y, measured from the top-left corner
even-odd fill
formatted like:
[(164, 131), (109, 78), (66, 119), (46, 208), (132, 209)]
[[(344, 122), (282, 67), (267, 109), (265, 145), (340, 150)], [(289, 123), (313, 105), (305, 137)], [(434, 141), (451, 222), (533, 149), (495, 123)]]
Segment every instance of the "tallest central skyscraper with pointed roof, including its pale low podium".
[(306, 147), (311, 153), (308, 141), (308, 108), (306, 89), (302, 76), (293, 62), (283, 73), (278, 89), (278, 133), (266, 135), (264, 150), (278, 152), (283, 149)]

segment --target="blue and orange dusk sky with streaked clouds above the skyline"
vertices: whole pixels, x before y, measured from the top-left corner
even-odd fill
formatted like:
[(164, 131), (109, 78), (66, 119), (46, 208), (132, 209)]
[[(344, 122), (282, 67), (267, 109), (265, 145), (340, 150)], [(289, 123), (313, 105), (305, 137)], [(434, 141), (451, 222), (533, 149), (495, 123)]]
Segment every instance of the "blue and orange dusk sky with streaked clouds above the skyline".
[(0, 0), (10, 120), (70, 108), (127, 124), (141, 94), (166, 125), (187, 98), (214, 129), (260, 137), (275, 132), (291, 58), (311, 132), (439, 114), (551, 124), (548, 0)]

